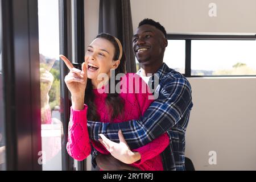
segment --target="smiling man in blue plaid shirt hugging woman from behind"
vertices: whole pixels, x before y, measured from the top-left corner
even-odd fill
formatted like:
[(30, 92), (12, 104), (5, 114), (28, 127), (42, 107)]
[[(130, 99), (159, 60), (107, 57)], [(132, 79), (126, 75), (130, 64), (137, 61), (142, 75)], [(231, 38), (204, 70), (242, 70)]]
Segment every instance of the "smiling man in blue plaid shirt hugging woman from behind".
[[(188, 80), (174, 69), (163, 63), (164, 51), (167, 47), (167, 36), (164, 27), (152, 19), (144, 19), (139, 23), (133, 36), (133, 49), (141, 64), (138, 74), (147, 78), (151, 73), (158, 76), (159, 85), (155, 92), (158, 98), (139, 120), (122, 123), (101, 123), (88, 121), (89, 137), (98, 140), (99, 134), (104, 134), (113, 142), (119, 142), (118, 130), (131, 149), (144, 146), (164, 133), (170, 137), (170, 145), (161, 154), (164, 170), (185, 170), (185, 131), (189, 114), (192, 109), (192, 92)], [(148, 80), (154, 85), (154, 76)], [(97, 158), (96, 159), (96, 155)], [(100, 156), (92, 152), (92, 163), (102, 169), (130, 169), (128, 165), (119, 162), (111, 155)], [(109, 165), (115, 163), (113, 166)], [(119, 164), (117, 164), (119, 162)], [(119, 166), (119, 167), (118, 167)], [(126, 167), (124, 167), (126, 166)], [(132, 169), (131, 169), (132, 170)]]

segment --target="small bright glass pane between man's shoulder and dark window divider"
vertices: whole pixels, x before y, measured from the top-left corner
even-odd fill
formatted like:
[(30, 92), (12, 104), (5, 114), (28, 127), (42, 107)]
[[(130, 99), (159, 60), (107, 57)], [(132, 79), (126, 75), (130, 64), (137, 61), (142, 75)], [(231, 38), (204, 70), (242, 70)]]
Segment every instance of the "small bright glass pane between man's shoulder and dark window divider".
[(168, 40), (168, 46), (164, 53), (164, 63), (185, 74), (185, 40)]

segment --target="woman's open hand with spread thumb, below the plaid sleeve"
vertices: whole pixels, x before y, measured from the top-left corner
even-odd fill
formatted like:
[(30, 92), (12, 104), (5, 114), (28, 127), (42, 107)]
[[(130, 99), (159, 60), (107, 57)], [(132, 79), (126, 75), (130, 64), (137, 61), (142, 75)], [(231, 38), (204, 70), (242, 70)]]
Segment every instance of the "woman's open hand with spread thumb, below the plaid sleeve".
[(132, 164), (141, 159), (141, 154), (139, 154), (139, 152), (133, 152), (130, 150), (121, 130), (118, 131), (119, 143), (112, 142), (102, 134), (100, 134), (100, 137), (102, 138), (99, 139), (101, 144), (104, 145), (115, 159), (126, 164)]

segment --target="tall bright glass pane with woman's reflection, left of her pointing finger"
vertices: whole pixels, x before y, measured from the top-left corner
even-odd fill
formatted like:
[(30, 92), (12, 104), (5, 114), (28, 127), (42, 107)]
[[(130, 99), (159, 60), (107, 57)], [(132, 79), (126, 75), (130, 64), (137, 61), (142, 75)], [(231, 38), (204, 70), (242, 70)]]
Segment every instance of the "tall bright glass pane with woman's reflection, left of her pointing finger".
[(59, 0), (38, 0), (43, 170), (61, 170)]

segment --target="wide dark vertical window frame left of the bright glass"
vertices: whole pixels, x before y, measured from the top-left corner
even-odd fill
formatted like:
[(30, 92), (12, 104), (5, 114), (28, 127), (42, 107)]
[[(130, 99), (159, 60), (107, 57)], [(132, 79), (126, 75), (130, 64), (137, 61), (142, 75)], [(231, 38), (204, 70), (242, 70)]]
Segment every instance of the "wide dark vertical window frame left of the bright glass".
[(42, 170), (38, 2), (1, 3), (6, 169)]

